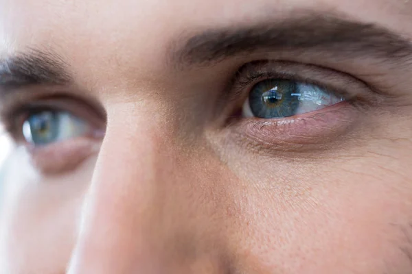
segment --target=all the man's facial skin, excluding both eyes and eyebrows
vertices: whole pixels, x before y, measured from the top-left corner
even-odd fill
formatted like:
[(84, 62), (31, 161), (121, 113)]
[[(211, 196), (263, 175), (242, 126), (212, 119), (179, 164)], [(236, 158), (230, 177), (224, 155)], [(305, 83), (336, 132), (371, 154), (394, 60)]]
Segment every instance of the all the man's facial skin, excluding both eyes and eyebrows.
[[(16, 138), (2, 171), (0, 273), (411, 273), (411, 64), (319, 58), (319, 51), (253, 53), (188, 69), (165, 64), (185, 34), (283, 20), (296, 10), (375, 23), (409, 40), (412, 3), (0, 6), (1, 55), (52, 51), (73, 75), (70, 85), (25, 87), (43, 94), (24, 96), (65, 90), (106, 113), (104, 138), (40, 151)], [(253, 127), (249, 138), (247, 125), (224, 123), (246, 98), (218, 111), (216, 102), (239, 66), (280, 55), (355, 75), (387, 95), (294, 132)]]

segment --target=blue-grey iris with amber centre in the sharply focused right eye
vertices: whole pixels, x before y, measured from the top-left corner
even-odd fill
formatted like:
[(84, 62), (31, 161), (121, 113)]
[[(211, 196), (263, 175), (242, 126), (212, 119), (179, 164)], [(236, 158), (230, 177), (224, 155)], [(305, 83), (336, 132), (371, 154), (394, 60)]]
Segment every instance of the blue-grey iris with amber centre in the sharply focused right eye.
[(249, 95), (254, 116), (271, 119), (293, 116), (299, 109), (297, 82), (287, 79), (267, 79), (256, 84)]

